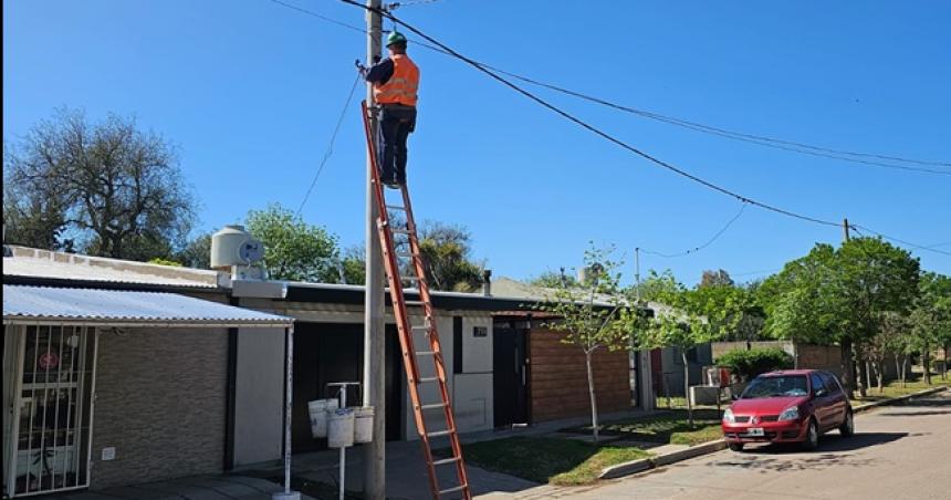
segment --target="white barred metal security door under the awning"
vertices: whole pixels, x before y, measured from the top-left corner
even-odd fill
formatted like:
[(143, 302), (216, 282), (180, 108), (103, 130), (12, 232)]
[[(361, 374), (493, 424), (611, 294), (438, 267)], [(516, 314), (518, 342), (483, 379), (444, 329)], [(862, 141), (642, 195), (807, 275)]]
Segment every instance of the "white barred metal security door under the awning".
[[(12, 330), (12, 331), (11, 331)], [(18, 353), (4, 489), (23, 497), (90, 485), (96, 330), (7, 326)], [(4, 374), (7, 375), (7, 374)]]

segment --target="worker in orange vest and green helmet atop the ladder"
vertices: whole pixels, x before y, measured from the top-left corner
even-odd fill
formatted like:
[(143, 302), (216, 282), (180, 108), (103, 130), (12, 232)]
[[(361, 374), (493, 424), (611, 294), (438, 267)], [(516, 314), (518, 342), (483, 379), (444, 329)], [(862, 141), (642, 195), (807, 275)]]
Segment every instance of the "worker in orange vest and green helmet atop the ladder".
[(379, 121), (383, 138), (379, 168), (383, 183), (391, 188), (406, 184), (406, 140), (416, 129), (416, 101), (419, 69), (406, 55), (406, 37), (394, 30), (386, 40), (389, 58), (372, 67), (360, 67), (373, 83), (374, 100), (383, 113)]

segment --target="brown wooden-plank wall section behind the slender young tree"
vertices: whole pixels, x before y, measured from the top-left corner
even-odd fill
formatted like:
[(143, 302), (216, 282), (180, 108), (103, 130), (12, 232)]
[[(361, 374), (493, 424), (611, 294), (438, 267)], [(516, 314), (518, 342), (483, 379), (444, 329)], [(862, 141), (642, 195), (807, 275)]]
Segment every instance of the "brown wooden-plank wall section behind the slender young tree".
[[(585, 356), (561, 334), (533, 329), (529, 337), (532, 421), (591, 415)], [(594, 360), (599, 413), (630, 407), (628, 353), (598, 350)]]

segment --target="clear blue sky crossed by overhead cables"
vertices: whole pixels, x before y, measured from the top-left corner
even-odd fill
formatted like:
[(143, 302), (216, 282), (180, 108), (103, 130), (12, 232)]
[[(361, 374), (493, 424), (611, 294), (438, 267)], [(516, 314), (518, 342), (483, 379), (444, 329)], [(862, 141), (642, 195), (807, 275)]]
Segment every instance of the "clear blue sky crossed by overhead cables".
[[(334, 0), (286, 0), (352, 24)], [(629, 106), (840, 149), (951, 162), (951, 3), (442, 0), (397, 11), (458, 51)], [(365, 52), (356, 32), (269, 0), (3, 2), (3, 136), (58, 106), (135, 114), (179, 148), (213, 230), (250, 208), (295, 209)], [(565, 122), (459, 61), (422, 69), (409, 176), (418, 219), (471, 229), (495, 275), (574, 267), (588, 241), (676, 253), (736, 200)], [(358, 96), (363, 91), (358, 91)], [(646, 152), (751, 198), (848, 217), (919, 244), (951, 242), (951, 176), (815, 158), (539, 91)], [(344, 246), (364, 235), (357, 102), (303, 210)], [(687, 283), (703, 269), (763, 275), (842, 230), (748, 207), (710, 247), (642, 256)], [(939, 247), (951, 251), (951, 244)], [(951, 273), (951, 257), (917, 251)], [(630, 272), (626, 273), (629, 280)]]

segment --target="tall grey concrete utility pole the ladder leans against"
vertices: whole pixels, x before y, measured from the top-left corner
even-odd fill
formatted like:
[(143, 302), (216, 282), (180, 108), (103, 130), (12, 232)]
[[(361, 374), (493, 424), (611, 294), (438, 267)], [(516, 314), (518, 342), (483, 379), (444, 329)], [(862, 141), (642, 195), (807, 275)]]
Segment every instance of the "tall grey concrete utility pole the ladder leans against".
[[(366, 63), (372, 65), (383, 52), (383, 17), (380, 0), (366, 0)], [(375, 106), (373, 84), (366, 85), (366, 103)], [(377, 131), (377, 117), (370, 118)], [(377, 206), (373, 186), (373, 159), (366, 158), (366, 296), (364, 300), (363, 404), (373, 406), (373, 441), (364, 446), (364, 498), (384, 500), (386, 497), (386, 330), (384, 329), (384, 271), (376, 220)]]

